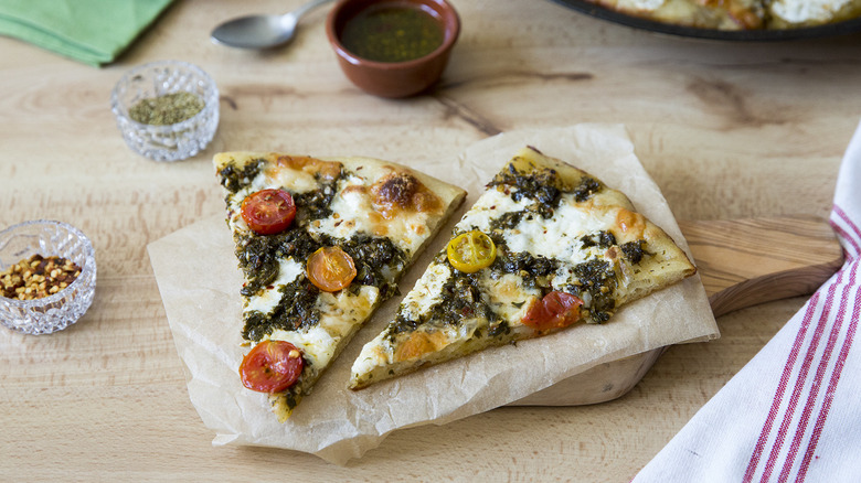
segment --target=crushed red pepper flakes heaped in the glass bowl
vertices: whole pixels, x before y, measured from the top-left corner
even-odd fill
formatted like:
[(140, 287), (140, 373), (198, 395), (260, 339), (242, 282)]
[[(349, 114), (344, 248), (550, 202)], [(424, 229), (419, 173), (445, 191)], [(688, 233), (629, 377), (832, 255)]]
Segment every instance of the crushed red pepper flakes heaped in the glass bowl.
[(18, 300), (41, 299), (68, 287), (79, 275), (81, 267), (72, 260), (36, 254), (0, 272), (0, 296)]

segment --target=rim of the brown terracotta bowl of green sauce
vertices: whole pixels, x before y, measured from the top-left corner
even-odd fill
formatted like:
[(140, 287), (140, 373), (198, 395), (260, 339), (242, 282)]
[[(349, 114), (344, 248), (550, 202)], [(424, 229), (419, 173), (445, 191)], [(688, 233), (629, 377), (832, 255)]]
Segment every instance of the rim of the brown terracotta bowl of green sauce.
[[(339, 39), (338, 33), (336, 32), (336, 23), (338, 17), (341, 14), (344, 8), (347, 8), (350, 3), (354, 3), (354, 2), (368, 2), (368, 4), (362, 9), (358, 10), (357, 13), (374, 4), (383, 4), (383, 3), (401, 4), (401, 6), (404, 4), (428, 6), (433, 3), (439, 6), (440, 9), (444, 11), (443, 13), (444, 18), (442, 19), (442, 22), (439, 22), (443, 26), (444, 35), (445, 35), (445, 37), (443, 39), (443, 43), (434, 51), (421, 57), (412, 58), (410, 61), (380, 62), (380, 61), (371, 61), (364, 57), (360, 57), (343, 46), (341, 40)], [(447, 21), (448, 19), (446, 19), (445, 15), (448, 15), (448, 19), (451, 20), (450, 23), (454, 25), (454, 28), (448, 29), (449, 22)], [(403, 71), (403, 69), (417, 67), (427, 62), (432, 62), (434, 58), (440, 57), (445, 55), (446, 52), (450, 51), (451, 47), (455, 45), (455, 42), (457, 42), (458, 36), (460, 36), (460, 15), (457, 13), (457, 10), (455, 10), (454, 6), (449, 3), (447, 0), (339, 0), (338, 3), (336, 3), (336, 6), (332, 7), (332, 9), (329, 11), (329, 14), (326, 19), (326, 35), (329, 37), (329, 43), (331, 44), (332, 49), (338, 54), (338, 56), (349, 62), (352, 65), (360, 66), (360, 67), (364, 66), (364, 67), (374, 68), (379, 71)]]

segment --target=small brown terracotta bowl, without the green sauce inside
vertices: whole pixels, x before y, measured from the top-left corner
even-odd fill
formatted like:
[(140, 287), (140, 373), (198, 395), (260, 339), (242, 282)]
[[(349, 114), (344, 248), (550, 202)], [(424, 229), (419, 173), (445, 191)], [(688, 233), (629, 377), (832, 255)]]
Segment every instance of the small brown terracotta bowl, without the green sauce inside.
[[(348, 51), (341, 43), (344, 25), (368, 8), (380, 6), (419, 8), (443, 26), (443, 44), (429, 54), (404, 62), (375, 62)], [(326, 33), (344, 75), (362, 90), (380, 97), (407, 97), (439, 79), (460, 33), (460, 19), (445, 0), (340, 0), (329, 12)]]

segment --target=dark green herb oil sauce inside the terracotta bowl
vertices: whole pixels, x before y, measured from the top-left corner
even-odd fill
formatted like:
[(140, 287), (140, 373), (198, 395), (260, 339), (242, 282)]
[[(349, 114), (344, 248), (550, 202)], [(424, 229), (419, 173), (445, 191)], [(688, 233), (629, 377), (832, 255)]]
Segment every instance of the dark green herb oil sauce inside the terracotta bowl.
[(353, 54), (375, 62), (424, 57), (443, 45), (443, 28), (415, 8), (366, 9), (344, 24), (341, 42)]

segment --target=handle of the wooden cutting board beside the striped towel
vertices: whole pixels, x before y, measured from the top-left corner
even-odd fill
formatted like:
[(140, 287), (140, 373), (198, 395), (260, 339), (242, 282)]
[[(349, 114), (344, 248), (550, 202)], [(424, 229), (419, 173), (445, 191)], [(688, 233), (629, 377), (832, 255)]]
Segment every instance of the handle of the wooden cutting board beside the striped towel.
[(812, 293), (843, 265), (828, 223), (810, 216), (681, 222), (714, 316)]

